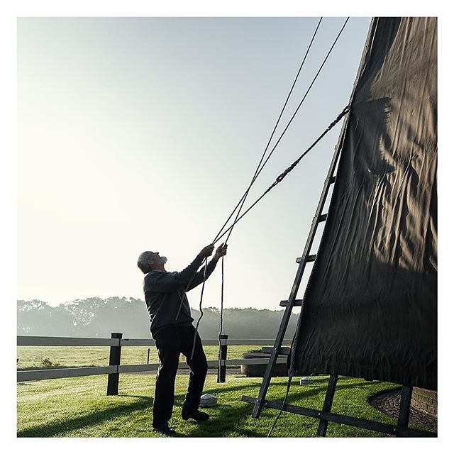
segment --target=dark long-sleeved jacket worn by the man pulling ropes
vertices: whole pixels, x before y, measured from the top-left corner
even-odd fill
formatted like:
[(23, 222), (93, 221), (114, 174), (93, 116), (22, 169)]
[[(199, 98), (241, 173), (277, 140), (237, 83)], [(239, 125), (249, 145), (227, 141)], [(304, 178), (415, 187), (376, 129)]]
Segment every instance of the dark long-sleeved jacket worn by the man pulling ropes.
[[(150, 314), (150, 331), (153, 338), (166, 326), (191, 325), (194, 321), (186, 292), (203, 282), (204, 267), (197, 272), (203, 261), (204, 258), (197, 255), (191, 265), (180, 272), (152, 271), (143, 278), (143, 292)], [(214, 271), (216, 263), (217, 260), (214, 259), (209, 262), (206, 278)]]

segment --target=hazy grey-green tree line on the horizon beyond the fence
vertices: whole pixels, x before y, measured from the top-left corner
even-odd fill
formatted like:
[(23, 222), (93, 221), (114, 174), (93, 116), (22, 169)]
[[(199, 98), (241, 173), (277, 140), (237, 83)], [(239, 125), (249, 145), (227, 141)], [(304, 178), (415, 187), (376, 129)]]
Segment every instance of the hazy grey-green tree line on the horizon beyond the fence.
[[(199, 325), (201, 338), (217, 338), (219, 310), (203, 309)], [(283, 310), (224, 309), (223, 333), (229, 338), (275, 338)], [(192, 309), (194, 325), (200, 312)], [(292, 314), (287, 330), (291, 337), (297, 325)], [(108, 338), (111, 333), (124, 338), (150, 338), (150, 319), (145, 302), (134, 298), (111, 297), (76, 299), (58, 306), (45, 301), (17, 301), (17, 333), (19, 336), (64, 336)]]

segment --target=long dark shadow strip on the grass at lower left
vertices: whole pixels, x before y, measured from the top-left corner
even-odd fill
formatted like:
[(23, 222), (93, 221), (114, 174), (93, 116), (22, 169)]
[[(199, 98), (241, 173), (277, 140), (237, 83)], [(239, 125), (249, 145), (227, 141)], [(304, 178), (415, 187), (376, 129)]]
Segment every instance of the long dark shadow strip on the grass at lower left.
[(140, 402), (133, 402), (132, 404), (124, 404), (115, 406), (113, 409), (107, 409), (103, 411), (96, 411), (96, 413), (87, 414), (58, 423), (46, 423), (43, 426), (36, 426), (28, 428), (23, 431), (18, 431), (18, 437), (54, 437), (54, 436), (66, 436), (68, 431), (74, 431), (79, 428), (85, 428), (87, 426), (95, 426), (96, 424), (116, 419), (120, 416), (129, 414), (131, 411), (139, 411), (149, 409), (153, 402), (150, 397), (133, 396), (136, 399), (140, 399)]

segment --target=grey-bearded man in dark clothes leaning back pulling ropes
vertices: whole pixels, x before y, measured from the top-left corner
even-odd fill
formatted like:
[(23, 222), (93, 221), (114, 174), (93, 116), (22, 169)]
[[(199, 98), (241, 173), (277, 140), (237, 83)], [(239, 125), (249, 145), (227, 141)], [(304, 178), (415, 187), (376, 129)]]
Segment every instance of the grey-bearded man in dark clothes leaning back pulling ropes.
[[(170, 435), (169, 427), (175, 398), (175, 377), (179, 355), (186, 356), (189, 365), (189, 384), (182, 408), (182, 419), (206, 421), (209, 415), (199, 411), (200, 397), (206, 377), (206, 357), (199, 334), (192, 325), (194, 319), (186, 292), (194, 289), (211, 275), (219, 258), (227, 253), (223, 243), (216, 249), (214, 258), (199, 270), (205, 258), (213, 253), (214, 245), (203, 248), (192, 263), (180, 272), (167, 272), (167, 258), (146, 251), (140, 254), (137, 265), (145, 274), (143, 292), (150, 314), (150, 331), (155, 339), (160, 366), (156, 375), (153, 402), (153, 431)], [(199, 271), (198, 271), (199, 270)], [(194, 355), (192, 348), (195, 338)], [(192, 358), (191, 358), (192, 355)]]

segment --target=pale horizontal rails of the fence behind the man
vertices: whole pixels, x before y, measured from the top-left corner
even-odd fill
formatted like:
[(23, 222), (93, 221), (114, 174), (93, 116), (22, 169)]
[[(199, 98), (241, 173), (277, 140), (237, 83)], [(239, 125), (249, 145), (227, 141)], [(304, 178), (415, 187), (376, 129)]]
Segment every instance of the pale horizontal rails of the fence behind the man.
[[(275, 339), (228, 339), (228, 345), (272, 345)], [(291, 343), (290, 340), (284, 341)], [(218, 339), (205, 339), (202, 341), (204, 345), (218, 345)], [(223, 340), (226, 345), (227, 340)], [(128, 338), (66, 338), (66, 337), (48, 337), (48, 336), (17, 336), (18, 346), (58, 346), (58, 347), (110, 347), (116, 350), (118, 358), (120, 356), (121, 347), (150, 347), (155, 345), (153, 339), (128, 339)], [(286, 358), (278, 358), (277, 363), (282, 364), (287, 361)], [(268, 358), (238, 358), (227, 360), (221, 358), (219, 360), (208, 361), (209, 369), (216, 369), (221, 364), (224, 370), (226, 366), (231, 365), (263, 365), (268, 363)], [(17, 381), (28, 382), (32, 380), (49, 380), (53, 378), (67, 378), (67, 377), (86, 377), (87, 375), (109, 375), (117, 383), (118, 392), (118, 375), (121, 373), (131, 372), (147, 372), (157, 371), (159, 364), (135, 364), (135, 365), (121, 365), (118, 364), (103, 366), (103, 367), (65, 367), (62, 369), (42, 369), (42, 370), (18, 370)], [(179, 362), (179, 370), (187, 370), (189, 367), (185, 362)], [(115, 388), (115, 386), (114, 386)], [(109, 390), (108, 390), (109, 392)], [(116, 393), (115, 393), (116, 394)]]

